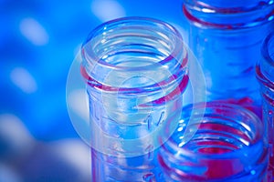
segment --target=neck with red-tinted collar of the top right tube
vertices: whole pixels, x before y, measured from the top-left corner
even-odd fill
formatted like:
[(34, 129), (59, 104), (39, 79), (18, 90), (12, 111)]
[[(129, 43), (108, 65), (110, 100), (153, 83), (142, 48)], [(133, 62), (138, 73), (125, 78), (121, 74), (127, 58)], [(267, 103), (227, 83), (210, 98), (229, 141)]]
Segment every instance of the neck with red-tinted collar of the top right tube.
[(274, 2), (184, 0), (183, 12), (195, 25), (218, 29), (245, 29), (265, 25), (274, 19)]

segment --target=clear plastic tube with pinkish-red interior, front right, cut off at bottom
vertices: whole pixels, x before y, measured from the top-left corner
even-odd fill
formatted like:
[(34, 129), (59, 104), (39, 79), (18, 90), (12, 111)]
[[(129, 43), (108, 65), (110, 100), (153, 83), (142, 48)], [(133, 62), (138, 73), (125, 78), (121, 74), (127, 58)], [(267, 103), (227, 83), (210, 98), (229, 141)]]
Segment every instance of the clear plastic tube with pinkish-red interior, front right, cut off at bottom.
[[(206, 104), (205, 115), (195, 114), (203, 108), (184, 107), (174, 135), (161, 147), (163, 181), (267, 181), (269, 150), (258, 116), (244, 107), (217, 102)], [(189, 136), (194, 128), (195, 135)]]

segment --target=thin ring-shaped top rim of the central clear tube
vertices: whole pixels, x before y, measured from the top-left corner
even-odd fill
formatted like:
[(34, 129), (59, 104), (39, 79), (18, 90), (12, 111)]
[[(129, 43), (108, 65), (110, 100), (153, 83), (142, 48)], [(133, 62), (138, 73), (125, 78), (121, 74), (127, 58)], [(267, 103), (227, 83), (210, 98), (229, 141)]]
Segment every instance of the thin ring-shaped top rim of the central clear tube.
[[(134, 67), (116, 66), (110, 63), (106, 63), (99, 56), (97, 56), (97, 54), (94, 53), (93, 51), (89, 52), (89, 57), (85, 55), (84, 52), (85, 52), (86, 45), (88, 45), (88, 43), (90, 42), (92, 38), (96, 37), (97, 35), (103, 34), (105, 30), (107, 29), (114, 30), (115, 26), (117, 25), (122, 25), (124, 26), (124, 28), (127, 28), (127, 25), (142, 25), (142, 24), (157, 27), (160, 31), (161, 30), (169, 31), (169, 33), (172, 33), (174, 35), (174, 38), (176, 39), (176, 41), (174, 41), (175, 43), (174, 50), (172, 50), (168, 56), (164, 57), (163, 60), (159, 62), (155, 62), (150, 65), (146, 65), (146, 66), (134, 66)], [(97, 62), (96, 64), (99, 64), (100, 66), (125, 72), (125, 71), (134, 71), (134, 70), (142, 71), (142, 70), (152, 69), (158, 66), (163, 66), (169, 60), (176, 58), (180, 54), (180, 52), (182, 52), (182, 47), (185, 50), (182, 35), (173, 25), (170, 25), (162, 20), (155, 19), (152, 17), (126, 16), (126, 17), (113, 19), (111, 21), (98, 25), (96, 28), (94, 28), (90, 32), (90, 35), (88, 35), (86, 41), (84, 41), (84, 43), (82, 44), (81, 50), (82, 50), (82, 56), (86, 58), (88, 64), (92, 61), (93, 62), (96, 61)], [(184, 53), (186, 53), (186, 51), (184, 51)], [(178, 60), (178, 62), (180, 62), (180, 60)], [(184, 56), (181, 66), (184, 67), (186, 65), (186, 62), (187, 62), (187, 56)]]

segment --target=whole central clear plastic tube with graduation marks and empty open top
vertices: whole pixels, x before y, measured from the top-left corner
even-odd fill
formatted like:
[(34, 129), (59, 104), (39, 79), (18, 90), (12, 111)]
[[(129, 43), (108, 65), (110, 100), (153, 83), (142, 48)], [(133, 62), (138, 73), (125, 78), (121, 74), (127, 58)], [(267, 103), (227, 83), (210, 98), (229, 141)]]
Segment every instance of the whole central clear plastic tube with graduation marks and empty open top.
[(159, 20), (120, 18), (90, 33), (82, 57), (92, 181), (161, 181), (157, 148), (176, 127), (188, 83), (181, 35)]

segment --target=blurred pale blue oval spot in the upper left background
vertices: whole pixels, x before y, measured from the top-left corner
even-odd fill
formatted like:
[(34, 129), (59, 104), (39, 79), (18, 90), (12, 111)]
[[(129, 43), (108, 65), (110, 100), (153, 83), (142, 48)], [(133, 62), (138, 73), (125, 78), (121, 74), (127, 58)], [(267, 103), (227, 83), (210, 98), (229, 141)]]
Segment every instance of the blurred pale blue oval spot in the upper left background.
[(33, 18), (25, 18), (20, 22), (20, 31), (34, 45), (46, 45), (48, 35), (45, 28)]

